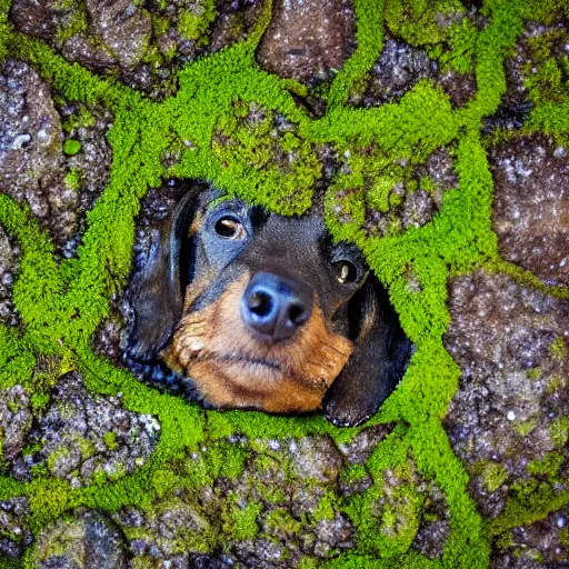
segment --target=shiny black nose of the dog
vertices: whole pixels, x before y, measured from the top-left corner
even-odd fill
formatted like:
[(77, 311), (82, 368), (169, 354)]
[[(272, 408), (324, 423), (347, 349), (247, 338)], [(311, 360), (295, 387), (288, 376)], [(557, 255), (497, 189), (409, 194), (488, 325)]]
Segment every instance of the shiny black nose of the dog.
[(311, 313), (310, 289), (271, 272), (258, 272), (241, 299), (244, 323), (273, 342), (292, 338)]

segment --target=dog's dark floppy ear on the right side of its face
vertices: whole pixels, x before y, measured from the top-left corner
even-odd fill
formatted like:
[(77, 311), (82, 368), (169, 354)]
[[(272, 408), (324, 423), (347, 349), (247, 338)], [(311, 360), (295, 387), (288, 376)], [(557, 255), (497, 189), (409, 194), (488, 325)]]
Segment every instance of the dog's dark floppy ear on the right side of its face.
[(402, 378), (411, 352), (387, 291), (372, 274), (348, 310), (360, 315), (355, 350), (322, 405), (326, 418), (341, 427), (362, 423), (380, 408)]

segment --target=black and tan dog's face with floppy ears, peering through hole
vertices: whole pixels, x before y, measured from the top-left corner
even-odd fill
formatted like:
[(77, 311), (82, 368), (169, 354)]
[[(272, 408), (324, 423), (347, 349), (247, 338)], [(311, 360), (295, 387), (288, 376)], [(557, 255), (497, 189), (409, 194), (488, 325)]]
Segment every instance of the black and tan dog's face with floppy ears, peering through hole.
[(372, 415), (410, 343), (356, 247), (321, 218), (286, 218), (190, 189), (133, 286), (130, 356), (162, 358), (221, 408)]

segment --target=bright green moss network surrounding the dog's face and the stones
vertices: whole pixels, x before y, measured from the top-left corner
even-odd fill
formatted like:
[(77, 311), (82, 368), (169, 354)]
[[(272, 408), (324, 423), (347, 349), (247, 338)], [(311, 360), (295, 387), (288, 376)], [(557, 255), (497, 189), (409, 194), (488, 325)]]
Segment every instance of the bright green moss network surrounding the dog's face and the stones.
[[(441, 426), (460, 373), (442, 343), (449, 323), (448, 279), (488, 267), (510, 272), (551, 295), (568, 296), (567, 290), (545, 287), (531, 274), (499, 259), (490, 224), (492, 178), (480, 133), (482, 120), (496, 112), (506, 91), (503, 61), (523, 20), (547, 20), (562, 9), (561, 4), (556, 0), (486, 0), (482, 13), (488, 19), (487, 27), (478, 30), (465, 21), (441, 34), (432, 20), (435, 12), (460, 11), (459, 2), (356, 0), (358, 48), (331, 84), (326, 114), (315, 120), (291, 94), (291, 90), (302, 91), (302, 86), (264, 72), (254, 61), (256, 47), (270, 19), (270, 1), (246, 41), (189, 63), (179, 74), (176, 96), (152, 102), (112, 79), (101, 79), (68, 63), (43, 42), (16, 32), (8, 21), (10, 1), (2, 0), (0, 58), (30, 62), (69, 101), (104, 104), (116, 121), (109, 133), (113, 152), (109, 184), (88, 213), (88, 227), (74, 258), (58, 261), (48, 234), (39, 229), (28, 209), (0, 194), (0, 223), (21, 249), (13, 300), (22, 321), (19, 330), (0, 328), (0, 386), (22, 383), (41, 396), (49, 382), (36, 383), (36, 359), (57, 356), (59, 371), (79, 369), (91, 391), (121, 392), (128, 409), (156, 416), (161, 438), (143, 467), (113, 483), (72, 489), (48, 476), (39, 476), (30, 483), (3, 476), (0, 499), (27, 496), (32, 531), (37, 533), (62, 512), (81, 505), (106, 511), (127, 505), (150, 508), (171, 488), (199, 488), (221, 476), (222, 470), (239, 470), (242, 457), (228, 460), (222, 453), (212, 453), (208, 461), (192, 468), (171, 467), (178, 457), (200, 446), (206, 430), (210, 441), (233, 433), (252, 439), (328, 433), (340, 442), (359, 431), (337, 429), (318, 416), (282, 418), (204, 411), (140, 383), (97, 356), (90, 345), (93, 332), (109, 313), (111, 295), (127, 282), (134, 218), (148, 188), (158, 188), (170, 177), (206, 179), (270, 210), (298, 214), (310, 207), (315, 181), (320, 176), (315, 148), (329, 143), (341, 152), (349, 150), (352, 157), (373, 157), (370, 148), (377, 149), (387, 164), (402, 158), (421, 163), (436, 149), (448, 147), (456, 160), (459, 186), (445, 196), (441, 211), (431, 222), (382, 238), (370, 237), (362, 229), (367, 188), (361, 168), (355, 167), (351, 174), (338, 174), (327, 190), (326, 221), (330, 231), (337, 239), (356, 241), (361, 247), (389, 288), (405, 331), (418, 348), (398, 389), (368, 423), (398, 423), (368, 460), (375, 485), (342, 506), (357, 525), (358, 550), (329, 561), (327, 567), (488, 567), (492, 535), (539, 519), (569, 502), (567, 495), (535, 496), (525, 502), (511, 502), (502, 516), (486, 525), (467, 491), (467, 472)], [(397, 103), (370, 109), (350, 107), (350, 93), (358, 89), (381, 51), (385, 23), (411, 44), (428, 44), (441, 64), (473, 71), (476, 97), (455, 109), (440, 88), (421, 81)], [(187, 21), (183, 26), (187, 34), (201, 30), (200, 22)], [(567, 100), (547, 97), (536, 81), (537, 106), (526, 129), (567, 137)], [(263, 142), (262, 123), (254, 127), (258, 130), (248, 131), (240, 122), (240, 109), (251, 102), (295, 124), (295, 134), (280, 141), (286, 151), (293, 151), (297, 157), (288, 171), (271, 166), (273, 149)], [(220, 133), (230, 133), (237, 142), (218, 143), (223, 139)], [(78, 150), (77, 144), (66, 143), (66, 152)], [(161, 157), (168, 152), (180, 159), (167, 168)], [(396, 168), (386, 167), (386, 176), (397, 172)], [(378, 202), (385, 207), (380, 198)], [(411, 270), (420, 283), (418, 289), (408, 287)], [(410, 549), (417, 519), (391, 535), (382, 532), (373, 517), (382, 472), (390, 468), (405, 478), (410, 457), (420, 475), (435, 481), (448, 503), (450, 533), (441, 560), (423, 558)], [(412, 485), (400, 491), (408, 492), (406, 508), (419, 516), (420, 499)], [(256, 515), (253, 506), (233, 517), (229, 535), (248, 535), (251, 516)], [(388, 522), (383, 517), (381, 523)], [(23, 562), (31, 562), (30, 559), (31, 555)]]

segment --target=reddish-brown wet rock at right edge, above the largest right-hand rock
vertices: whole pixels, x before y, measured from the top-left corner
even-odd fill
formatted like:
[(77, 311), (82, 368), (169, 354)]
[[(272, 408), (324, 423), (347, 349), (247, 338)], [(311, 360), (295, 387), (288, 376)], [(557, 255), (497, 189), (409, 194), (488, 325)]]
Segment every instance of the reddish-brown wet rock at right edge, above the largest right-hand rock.
[(489, 160), (500, 254), (548, 283), (569, 283), (569, 148), (533, 136), (493, 148)]

